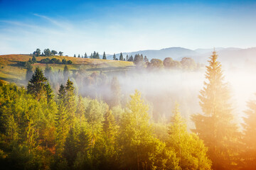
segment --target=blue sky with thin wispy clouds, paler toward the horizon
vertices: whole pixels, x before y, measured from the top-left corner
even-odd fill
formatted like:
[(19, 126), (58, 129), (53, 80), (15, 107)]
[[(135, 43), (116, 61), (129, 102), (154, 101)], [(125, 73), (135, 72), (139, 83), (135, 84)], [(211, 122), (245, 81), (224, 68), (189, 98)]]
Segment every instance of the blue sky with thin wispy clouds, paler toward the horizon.
[(0, 55), (256, 47), (256, 1), (0, 0)]

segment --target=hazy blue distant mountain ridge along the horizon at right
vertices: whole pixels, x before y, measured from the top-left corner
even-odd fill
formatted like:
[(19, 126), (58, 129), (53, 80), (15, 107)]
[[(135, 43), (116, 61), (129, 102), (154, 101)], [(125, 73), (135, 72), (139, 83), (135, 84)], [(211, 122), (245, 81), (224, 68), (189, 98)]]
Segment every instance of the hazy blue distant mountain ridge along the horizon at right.
[[(156, 58), (164, 60), (166, 57), (171, 57), (174, 60), (180, 61), (183, 57), (191, 57), (196, 62), (201, 62), (206, 64), (208, 57), (210, 57), (212, 49), (196, 49), (190, 50), (183, 47), (169, 47), (161, 50), (140, 50), (136, 52), (122, 52), (124, 58), (126, 55), (146, 55), (149, 60)], [(228, 64), (245, 64), (245, 62), (250, 62), (250, 64), (256, 64), (256, 47), (250, 47), (246, 49), (237, 47), (216, 47), (215, 50), (219, 55), (220, 62), (228, 62)], [(120, 54), (116, 54), (119, 59)], [(107, 55), (108, 60), (112, 60), (113, 55)]]

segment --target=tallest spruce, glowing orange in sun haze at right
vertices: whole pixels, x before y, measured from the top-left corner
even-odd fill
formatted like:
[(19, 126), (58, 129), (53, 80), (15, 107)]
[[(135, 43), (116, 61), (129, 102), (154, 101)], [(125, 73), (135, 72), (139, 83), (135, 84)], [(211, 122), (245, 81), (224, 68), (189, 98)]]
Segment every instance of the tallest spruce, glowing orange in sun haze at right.
[(198, 96), (203, 115), (192, 116), (198, 136), (208, 147), (208, 156), (213, 161), (213, 169), (234, 169), (237, 165), (238, 127), (233, 123), (232, 108), (229, 103), (228, 85), (223, 83), (223, 72), (218, 55), (213, 51), (206, 67), (204, 87)]

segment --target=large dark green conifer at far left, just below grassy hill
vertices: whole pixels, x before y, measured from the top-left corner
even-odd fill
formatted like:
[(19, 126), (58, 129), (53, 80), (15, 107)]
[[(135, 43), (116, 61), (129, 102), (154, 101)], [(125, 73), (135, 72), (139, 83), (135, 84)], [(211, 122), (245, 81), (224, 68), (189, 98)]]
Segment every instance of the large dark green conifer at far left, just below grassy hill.
[(30, 81), (28, 81), (28, 94), (32, 94), (37, 100), (40, 100), (46, 92), (46, 77), (43, 76), (43, 71), (36, 67)]

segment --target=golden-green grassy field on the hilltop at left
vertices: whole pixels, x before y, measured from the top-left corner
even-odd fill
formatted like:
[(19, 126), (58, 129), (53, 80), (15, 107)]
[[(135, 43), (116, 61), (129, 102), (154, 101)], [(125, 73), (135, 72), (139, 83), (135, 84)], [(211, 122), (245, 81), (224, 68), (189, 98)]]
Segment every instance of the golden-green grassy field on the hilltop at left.
[[(85, 59), (85, 58), (75, 58), (75, 57), (60, 57), (52, 56), (48, 58), (57, 58), (60, 61), (71, 60), (73, 64), (68, 64), (68, 69), (70, 73), (78, 69), (85, 69), (87, 74), (92, 72), (120, 72), (126, 71), (134, 67), (132, 62), (114, 61), (114, 60), (97, 60), (97, 59)], [(26, 77), (26, 68), (22, 67), (19, 62), (26, 62), (32, 59), (31, 55), (0, 55), (0, 79), (8, 83), (15, 82), (18, 85), (26, 85), (23, 80)], [(37, 61), (47, 57), (36, 57)], [(46, 64), (36, 63), (32, 64), (33, 69), (39, 66), (41, 69), (45, 69)], [(58, 69), (63, 70), (65, 64), (48, 64), (53, 67), (53, 71), (58, 71)]]

